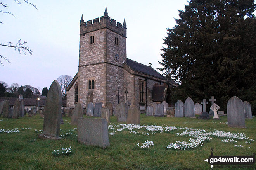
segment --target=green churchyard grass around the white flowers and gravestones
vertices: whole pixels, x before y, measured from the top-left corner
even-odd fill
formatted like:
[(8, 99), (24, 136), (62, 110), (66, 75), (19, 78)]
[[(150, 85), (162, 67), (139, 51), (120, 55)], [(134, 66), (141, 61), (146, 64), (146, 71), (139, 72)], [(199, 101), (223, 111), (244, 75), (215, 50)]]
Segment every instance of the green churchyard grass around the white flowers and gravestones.
[[(86, 117), (86, 116), (84, 116)], [(43, 140), (38, 138), (35, 129), (43, 129), (43, 118), (25, 116), (20, 119), (0, 118), (0, 129), (19, 128), (19, 133), (0, 133), (0, 169), (36, 169), (36, 170), (54, 170), (54, 169), (132, 169), (132, 170), (194, 170), (211, 169), (207, 159), (213, 148), (214, 155), (233, 156), (233, 155), (253, 155), (256, 153), (256, 141), (245, 143), (248, 140), (236, 140), (237, 143), (224, 143), (223, 139), (212, 137), (211, 141), (192, 150), (172, 150), (167, 149), (169, 143), (176, 141), (189, 141), (190, 137), (176, 136), (176, 133), (183, 130), (174, 130), (170, 132), (152, 134), (149, 136), (142, 134), (130, 134), (128, 129), (116, 131), (115, 135), (109, 135), (110, 147), (102, 149), (95, 146), (87, 146), (77, 142), (77, 131), (71, 131), (76, 128), (69, 124), (71, 118), (64, 117), (64, 124), (61, 124), (61, 133), (72, 132), (62, 140)], [(194, 129), (205, 129), (206, 131), (221, 130), (231, 133), (244, 133), (249, 139), (256, 140), (255, 124), (256, 119), (246, 119), (246, 127), (229, 128), (227, 117), (221, 117), (221, 120), (201, 120), (190, 118), (167, 118), (167, 117), (148, 117), (145, 114), (140, 115), (140, 125), (159, 125), (188, 127)], [(116, 117), (111, 116), (111, 124), (117, 123)], [(23, 129), (21, 128), (31, 128)], [(112, 132), (109, 129), (109, 132)], [(143, 131), (142, 129), (137, 130)], [(144, 131), (145, 132), (145, 131)], [(41, 132), (40, 132), (41, 133)], [(36, 139), (36, 140), (34, 140)], [(232, 139), (232, 138), (230, 138)], [(139, 148), (137, 143), (144, 143), (146, 140), (153, 141), (154, 147)], [(234, 145), (243, 145), (244, 147), (234, 147)], [(53, 156), (54, 150), (72, 147), (72, 153), (68, 156)], [(250, 148), (249, 148), (250, 147)], [(256, 166), (254, 169), (256, 169)], [(213, 167), (214, 168), (214, 167)], [(215, 168), (216, 169), (216, 168)], [(225, 168), (221, 168), (225, 169)], [(230, 169), (230, 168), (226, 168)], [(239, 168), (236, 168), (239, 169)], [(241, 168), (245, 169), (245, 168)], [(252, 168), (247, 168), (252, 169)]]

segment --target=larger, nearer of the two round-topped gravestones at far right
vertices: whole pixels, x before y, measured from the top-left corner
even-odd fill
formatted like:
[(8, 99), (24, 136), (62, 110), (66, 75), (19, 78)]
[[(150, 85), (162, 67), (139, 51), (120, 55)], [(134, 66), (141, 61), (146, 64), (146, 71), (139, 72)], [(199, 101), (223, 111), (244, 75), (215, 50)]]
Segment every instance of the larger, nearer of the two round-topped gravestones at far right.
[(244, 102), (236, 96), (233, 96), (228, 100), (227, 117), (229, 127), (246, 128)]

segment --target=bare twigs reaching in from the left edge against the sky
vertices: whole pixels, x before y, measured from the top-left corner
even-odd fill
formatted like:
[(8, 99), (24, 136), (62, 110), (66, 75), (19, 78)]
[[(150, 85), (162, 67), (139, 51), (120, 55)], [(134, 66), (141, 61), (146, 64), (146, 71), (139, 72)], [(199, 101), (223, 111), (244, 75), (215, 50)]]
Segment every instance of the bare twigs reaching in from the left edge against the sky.
[[(36, 6), (33, 4), (33, 3), (30, 3), (28, 2), (28, 0), (23, 0), (25, 3), (33, 6), (34, 8), (36, 8)], [(16, 2), (18, 5), (21, 4), (21, 0), (14, 0), (14, 2)], [(0, 6), (2, 5), (2, 7), (4, 9), (7, 9), (9, 8), (9, 6), (3, 2), (0, 2)], [(37, 8), (36, 8), (37, 9)], [(8, 12), (8, 11), (5, 11), (5, 10), (0, 10), (0, 13), (3, 13), (3, 14), (10, 14), (12, 16), (14, 16), (14, 14), (12, 14), (11, 12)], [(15, 16), (14, 16), (15, 17)], [(0, 21), (0, 24), (3, 24), (2, 21)], [(32, 55), (32, 50), (26, 46), (26, 43), (27, 42), (21, 42), (21, 39), (18, 39), (18, 42), (17, 44), (13, 44), (12, 42), (8, 42), (8, 43), (0, 43), (0, 46), (3, 46), (3, 47), (9, 47), (9, 48), (13, 48), (15, 51), (17, 50), (19, 52), (19, 54), (21, 54), (21, 52), (26, 55), (26, 52), (28, 52), (29, 54)], [(0, 64), (3, 66), (3, 62), (1, 61), (1, 59), (4, 59), (5, 61), (7, 61), (8, 63), (10, 63), (10, 61), (5, 57), (3, 56), (2, 54), (0, 54)]]

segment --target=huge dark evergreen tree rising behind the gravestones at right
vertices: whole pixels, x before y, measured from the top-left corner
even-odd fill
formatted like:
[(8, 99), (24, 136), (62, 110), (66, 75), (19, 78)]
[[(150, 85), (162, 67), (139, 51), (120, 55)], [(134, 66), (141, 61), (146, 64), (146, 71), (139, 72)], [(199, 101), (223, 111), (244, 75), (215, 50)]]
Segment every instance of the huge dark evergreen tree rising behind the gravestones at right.
[[(256, 8), (254, 0), (191, 0), (168, 29), (162, 71), (180, 82), (174, 100), (217, 99), (226, 110), (237, 96), (256, 112)], [(210, 104), (208, 105), (210, 107)]]

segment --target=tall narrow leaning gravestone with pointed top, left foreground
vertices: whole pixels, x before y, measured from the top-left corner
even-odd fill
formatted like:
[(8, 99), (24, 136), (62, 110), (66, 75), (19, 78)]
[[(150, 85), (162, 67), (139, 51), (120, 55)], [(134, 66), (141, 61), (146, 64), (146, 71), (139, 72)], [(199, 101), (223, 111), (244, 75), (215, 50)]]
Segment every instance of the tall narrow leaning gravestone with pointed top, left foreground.
[(57, 80), (49, 88), (43, 121), (43, 133), (39, 134), (44, 139), (62, 139), (59, 137), (61, 124), (61, 87)]

